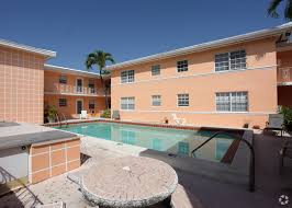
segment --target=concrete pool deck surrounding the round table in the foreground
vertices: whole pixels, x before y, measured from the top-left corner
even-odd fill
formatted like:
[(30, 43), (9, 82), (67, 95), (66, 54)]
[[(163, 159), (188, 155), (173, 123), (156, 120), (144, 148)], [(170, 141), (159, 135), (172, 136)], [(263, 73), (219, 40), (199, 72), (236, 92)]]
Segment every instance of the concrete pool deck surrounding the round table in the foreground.
[[(278, 203), (279, 196), (289, 195), (292, 198), (292, 161), (287, 161), (285, 173), (278, 174), (279, 149), (283, 140), (280, 137), (255, 135), (254, 146), (256, 150), (256, 192), (247, 192), (246, 186), (225, 183), (211, 177), (203, 177), (183, 169), (173, 166), (179, 176), (179, 183), (184, 187), (187, 197), (196, 196), (205, 208), (222, 207), (283, 207)], [(79, 186), (67, 178), (68, 174), (86, 172), (92, 164), (98, 164), (105, 159), (114, 159), (123, 155), (141, 155), (147, 151), (145, 148), (127, 145), (116, 145), (111, 141), (96, 139), (91, 137), (81, 138), (81, 152), (89, 155), (78, 170), (66, 173), (27, 188), (22, 188), (14, 194), (0, 198), (0, 205), (20, 205), (31, 207), (44, 203), (65, 201), (68, 207), (89, 207), (83, 200)], [(147, 152), (148, 155), (157, 157), (154, 152)], [(200, 169), (201, 166), (198, 166)], [(37, 197), (37, 199), (36, 199)], [(290, 203), (290, 207), (292, 204)], [(287, 206), (287, 207), (289, 207)], [(195, 207), (195, 205), (193, 205)]]

